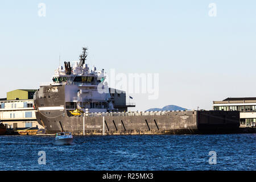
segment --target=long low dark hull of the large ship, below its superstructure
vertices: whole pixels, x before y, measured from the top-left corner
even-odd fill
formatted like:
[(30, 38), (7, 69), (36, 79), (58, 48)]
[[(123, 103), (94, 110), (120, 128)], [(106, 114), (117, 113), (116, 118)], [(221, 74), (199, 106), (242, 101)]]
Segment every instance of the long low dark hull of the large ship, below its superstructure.
[(47, 118), (37, 111), (36, 118), (47, 134), (67, 131), (72, 135), (218, 134), (236, 133), (240, 126), (236, 111), (168, 111), (163, 115), (123, 113), (104, 117), (63, 114), (56, 118)]

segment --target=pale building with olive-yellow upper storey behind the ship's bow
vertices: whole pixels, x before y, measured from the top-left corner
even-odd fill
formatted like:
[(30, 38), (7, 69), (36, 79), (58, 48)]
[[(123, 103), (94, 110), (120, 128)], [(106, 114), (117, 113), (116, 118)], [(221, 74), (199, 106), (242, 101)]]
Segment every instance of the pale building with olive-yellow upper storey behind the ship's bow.
[(39, 125), (35, 117), (33, 96), (36, 90), (18, 89), (7, 92), (7, 98), (0, 99), (0, 121), (9, 129), (26, 129)]

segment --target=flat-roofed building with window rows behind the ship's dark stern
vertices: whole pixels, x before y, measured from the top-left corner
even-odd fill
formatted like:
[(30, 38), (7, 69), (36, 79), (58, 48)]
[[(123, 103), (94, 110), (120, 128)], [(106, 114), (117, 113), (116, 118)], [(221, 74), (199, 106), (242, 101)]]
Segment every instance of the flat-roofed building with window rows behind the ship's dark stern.
[(213, 101), (213, 110), (240, 111), (240, 125), (250, 126), (256, 121), (256, 97), (226, 98), (223, 101)]

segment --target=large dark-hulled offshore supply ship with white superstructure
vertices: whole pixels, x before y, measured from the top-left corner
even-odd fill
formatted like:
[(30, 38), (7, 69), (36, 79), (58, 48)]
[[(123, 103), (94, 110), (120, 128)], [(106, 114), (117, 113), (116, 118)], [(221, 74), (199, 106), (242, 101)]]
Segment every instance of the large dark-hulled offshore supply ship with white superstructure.
[(52, 82), (34, 94), (36, 119), (47, 134), (197, 134), (232, 133), (240, 126), (239, 111), (186, 110), (129, 112), (126, 93), (109, 88), (104, 69), (89, 69), (87, 48), (71, 67), (55, 70)]

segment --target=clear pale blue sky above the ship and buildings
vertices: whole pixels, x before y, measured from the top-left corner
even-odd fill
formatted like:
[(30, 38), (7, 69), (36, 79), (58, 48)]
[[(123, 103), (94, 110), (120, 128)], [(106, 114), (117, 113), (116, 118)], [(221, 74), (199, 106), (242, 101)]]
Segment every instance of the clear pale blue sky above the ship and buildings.
[(0, 1), (0, 97), (51, 81), (59, 55), (75, 61), (87, 46), (99, 69), (159, 73), (158, 100), (134, 94), (135, 110), (211, 109), (256, 97), (255, 33), (256, 1)]

